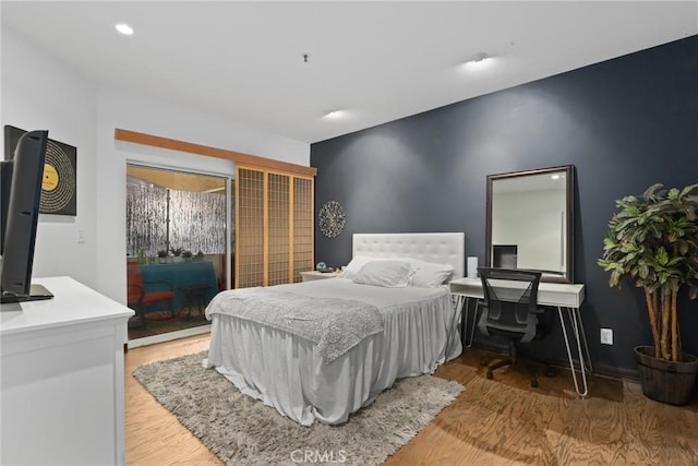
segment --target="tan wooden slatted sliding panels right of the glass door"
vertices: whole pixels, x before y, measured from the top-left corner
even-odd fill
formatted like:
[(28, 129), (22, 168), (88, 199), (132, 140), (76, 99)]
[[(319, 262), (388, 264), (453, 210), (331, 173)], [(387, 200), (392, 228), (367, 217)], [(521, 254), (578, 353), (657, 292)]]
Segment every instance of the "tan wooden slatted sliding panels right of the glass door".
[(313, 179), (237, 167), (236, 288), (301, 280), (313, 268)]

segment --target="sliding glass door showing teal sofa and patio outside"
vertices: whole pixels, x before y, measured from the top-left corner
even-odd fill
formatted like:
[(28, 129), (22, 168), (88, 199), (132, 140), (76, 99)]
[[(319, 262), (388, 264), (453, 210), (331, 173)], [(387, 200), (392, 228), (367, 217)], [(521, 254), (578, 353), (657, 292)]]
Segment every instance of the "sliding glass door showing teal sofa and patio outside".
[(231, 205), (226, 177), (127, 167), (130, 340), (208, 323), (231, 278)]

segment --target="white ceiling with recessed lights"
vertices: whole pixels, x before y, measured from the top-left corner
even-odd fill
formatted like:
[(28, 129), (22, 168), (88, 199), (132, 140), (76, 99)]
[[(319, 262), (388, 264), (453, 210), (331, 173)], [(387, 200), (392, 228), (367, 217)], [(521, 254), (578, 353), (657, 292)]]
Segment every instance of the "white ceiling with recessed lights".
[[(1, 7), (3, 27), (99, 85), (308, 143), (698, 34), (695, 0)], [(481, 51), (486, 68), (464, 67)]]

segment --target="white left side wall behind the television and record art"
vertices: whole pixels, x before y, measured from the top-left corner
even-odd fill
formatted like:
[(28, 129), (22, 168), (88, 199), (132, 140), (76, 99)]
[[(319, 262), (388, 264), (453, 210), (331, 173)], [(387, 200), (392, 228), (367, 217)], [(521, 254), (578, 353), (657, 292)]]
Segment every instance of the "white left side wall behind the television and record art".
[[(2, 126), (49, 130), (77, 147), (77, 215), (40, 215), (34, 276), (69, 275), (97, 285), (97, 94), (91, 83), (2, 28)], [(4, 147), (4, 136), (3, 136)], [(87, 239), (76, 242), (77, 229)]]

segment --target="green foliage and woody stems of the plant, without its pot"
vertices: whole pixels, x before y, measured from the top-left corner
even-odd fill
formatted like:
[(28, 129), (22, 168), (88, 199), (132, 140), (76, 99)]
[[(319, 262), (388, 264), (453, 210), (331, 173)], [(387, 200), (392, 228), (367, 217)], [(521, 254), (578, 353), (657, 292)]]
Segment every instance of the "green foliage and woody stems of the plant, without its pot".
[(611, 272), (611, 287), (627, 279), (643, 288), (654, 357), (679, 361), (678, 292), (698, 297), (698, 184), (662, 188), (616, 201), (598, 263)]

